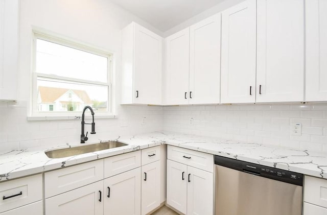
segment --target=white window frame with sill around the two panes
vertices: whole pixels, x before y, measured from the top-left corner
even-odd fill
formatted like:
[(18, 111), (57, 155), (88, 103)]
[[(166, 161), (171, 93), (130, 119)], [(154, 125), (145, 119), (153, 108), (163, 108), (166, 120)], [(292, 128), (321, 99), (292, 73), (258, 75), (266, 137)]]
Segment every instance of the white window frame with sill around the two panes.
[[(107, 82), (98, 81), (87, 81), (84, 79), (68, 78), (57, 75), (41, 74), (36, 73), (36, 39), (42, 39), (49, 42), (54, 42), (60, 45), (72, 47), (73, 49), (85, 51), (88, 53), (96, 54), (99, 56), (106, 57), (108, 59), (107, 63)], [(75, 83), (97, 85), (97, 86), (107, 86), (108, 88), (108, 111), (97, 111), (95, 113), (96, 118), (114, 118), (113, 114), (113, 99), (112, 99), (112, 77), (113, 77), (113, 66), (112, 66), (112, 55), (109, 52), (99, 49), (98, 47), (85, 44), (83, 42), (73, 41), (72, 39), (67, 39), (61, 36), (55, 36), (53, 34), (48, 34), (44, 32), (39, 32), (33, 30), (33, 47), (32, 47), (32, 92), (31, 92), (31, 111), (28, 116), (28, 120), (69, 120), (80, 118), (81, 111), (37, 111), (37, 78), (46, 79), (56, 79), (63, 81), (71, 81)]]

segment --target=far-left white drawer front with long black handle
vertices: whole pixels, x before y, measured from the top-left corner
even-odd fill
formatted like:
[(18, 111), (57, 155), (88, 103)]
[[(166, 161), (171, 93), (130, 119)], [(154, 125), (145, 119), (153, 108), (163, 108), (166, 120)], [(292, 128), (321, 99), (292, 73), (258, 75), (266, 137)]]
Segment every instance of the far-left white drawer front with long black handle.
[(42, 200), (42, 193), (41, 174), (2, 182), (0, 212)]

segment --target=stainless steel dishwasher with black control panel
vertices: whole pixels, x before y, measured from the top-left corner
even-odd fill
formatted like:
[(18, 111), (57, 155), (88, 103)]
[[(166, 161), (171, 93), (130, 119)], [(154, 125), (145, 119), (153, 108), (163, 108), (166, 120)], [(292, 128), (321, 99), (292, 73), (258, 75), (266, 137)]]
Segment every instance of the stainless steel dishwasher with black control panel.
[(215, 155), (215, 215), (301, 215), (303, 175)]

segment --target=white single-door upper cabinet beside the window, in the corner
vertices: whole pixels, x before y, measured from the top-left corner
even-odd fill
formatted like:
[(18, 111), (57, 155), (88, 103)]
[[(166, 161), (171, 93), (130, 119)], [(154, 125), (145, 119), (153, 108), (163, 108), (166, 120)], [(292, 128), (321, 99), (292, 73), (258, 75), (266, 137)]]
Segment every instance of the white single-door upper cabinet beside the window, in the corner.
[(122, 104), (160, 105), (162, 38), (135, 22), (122, 35)]

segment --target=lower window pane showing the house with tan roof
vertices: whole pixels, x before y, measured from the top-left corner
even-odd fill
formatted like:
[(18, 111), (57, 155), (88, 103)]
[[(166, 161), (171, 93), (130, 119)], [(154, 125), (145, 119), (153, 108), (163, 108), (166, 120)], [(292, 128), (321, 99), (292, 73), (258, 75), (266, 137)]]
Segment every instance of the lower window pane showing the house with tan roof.
[(108, 111), (108, 86), (37, 78), (37, 111)]

